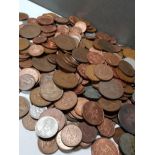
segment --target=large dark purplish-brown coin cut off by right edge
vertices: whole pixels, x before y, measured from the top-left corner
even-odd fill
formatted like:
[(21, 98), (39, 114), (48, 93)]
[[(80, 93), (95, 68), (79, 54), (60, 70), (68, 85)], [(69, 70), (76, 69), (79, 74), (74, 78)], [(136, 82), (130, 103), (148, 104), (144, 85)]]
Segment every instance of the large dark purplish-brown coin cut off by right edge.
[(135, 106), (125, 104), (118, 113), (120, 125), (129, 133), (135, 134)]

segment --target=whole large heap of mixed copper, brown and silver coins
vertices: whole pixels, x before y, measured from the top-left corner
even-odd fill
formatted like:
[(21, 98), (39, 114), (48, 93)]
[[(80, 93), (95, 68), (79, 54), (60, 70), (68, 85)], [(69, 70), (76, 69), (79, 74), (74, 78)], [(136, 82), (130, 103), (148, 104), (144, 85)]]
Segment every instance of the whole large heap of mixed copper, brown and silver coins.
[(19, 118), (39, 150), (134, 155), (134, 49), (80, 17), (19, 20)]

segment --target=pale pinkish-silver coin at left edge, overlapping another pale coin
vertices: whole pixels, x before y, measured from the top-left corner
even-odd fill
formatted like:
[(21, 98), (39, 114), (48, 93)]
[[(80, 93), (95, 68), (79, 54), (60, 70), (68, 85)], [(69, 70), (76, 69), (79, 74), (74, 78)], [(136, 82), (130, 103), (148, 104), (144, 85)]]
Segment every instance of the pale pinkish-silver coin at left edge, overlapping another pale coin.
[(30, 90), (35, 85), (35, 79), (30, 74), (24, 74), (19, 76), (19, 89)]

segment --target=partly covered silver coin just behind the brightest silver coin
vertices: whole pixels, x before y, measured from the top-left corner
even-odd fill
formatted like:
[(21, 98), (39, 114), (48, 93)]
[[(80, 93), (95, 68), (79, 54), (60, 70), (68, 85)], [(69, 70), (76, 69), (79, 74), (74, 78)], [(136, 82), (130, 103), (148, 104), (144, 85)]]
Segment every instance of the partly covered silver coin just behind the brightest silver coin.
[(40, 114), (47, 110), (47, 107), (37, 107), (35, 105), (31, 105), (30, 107), (30, 116), (34, 119), (39, 119)]

